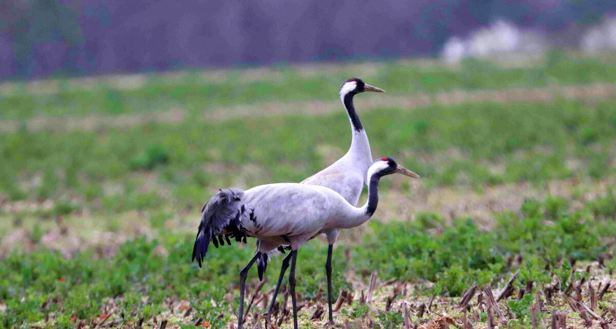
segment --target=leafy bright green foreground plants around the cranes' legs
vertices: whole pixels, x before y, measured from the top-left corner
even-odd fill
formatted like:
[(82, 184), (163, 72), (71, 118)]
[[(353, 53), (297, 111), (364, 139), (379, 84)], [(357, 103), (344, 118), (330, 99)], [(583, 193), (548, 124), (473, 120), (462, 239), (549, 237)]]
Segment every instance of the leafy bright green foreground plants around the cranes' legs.
[[(520, 264), (513, 265), (521, 271), (516, 286), (523, 287), (528, 280), (537, 285), (556, 280), (564, 290), (569, 280), (579, 280), (583, 273), (583, 268), (578, 268), (580, 272), (574, 272), (570, 278), (569, 260), (597, 259), (616, 242), (612, 234), (616, 229), (616, 211), (596, 213), (596, 204), (609, 201), (613, 201), (612, 196), (599, 198), (569, 214), (567, 202), (562, 199), (527, 200), (517, 214), (498, 215), (498, 223), (491, 230), (481, 230), (472, 219), (456, 219), (442, 233), (430, 233), (424, 222), (419, 221), (373, 221), (373, 234), (366, 235), (362, 243), (334, 249), (334, 290), (352, 285), (346, 273), (363, 272), (360, 279), (367, 281), (369, 273), (377, 271), (383, 280), (436, 283), (432, 288), (416, 288), (418, 294), (460, 296), (472, 283), (494, 288), (500, 285), (493, 278), (504, 278), (512, 270), (508, 259), (514, 255), (521, 255), (522, 259)], [(556, 212), (554, 202), (560, 204)], [(224, 327), (237, 307), (238, 270), (254, 252), (253, 248), (212, 248), (204, 269), (200, 270), (190, 262), (192, 240), (192, 235), (183, 234), (165, 235), (163, 241), (136, 238), (124, 243), (110, 259), (100, 257), (92, 249), (69, 259), (44, 248), (28, 255), (12, 252), (0, 260), (0, 300), (7, 306), (6, 312), (0, 314), (0, 324), (42, 324), (44, 314), (52, 313), (57, 325), (70, 327), (71, 317), (89, 321), (104, 313), (103, 309), (110, 304), (118, 306), (113, 319), (120, 319), (123, 314), (124, 322), (145, 317), (151, 323), (155, 315), (168, 309), (169, 301), (186, 299), (195, 309), (195, 319), (215, 319), (213, 325)], [(351, 259), (344, 256), (344, 248), (350, 250)], [(163, 255), (167, 253), (168, 256)], [(302, 248), (300, 255), (298, 292), (302, 299), (309, 300), (323, 286), (326, 248), (320, 241), (314, 241)], [(562, 269), (557, 265), (560, 257), (566, 259)], [(270, 285), (280, 259), (276, 257), (270, 264)], [(249, 276), (254, 282), (256, 269), (251, 271)], [(551, 272), (556, 274), (554, 278), (550, 277)], [(236, 296), (235, 301), (224, 298), (227, 290)], [(319, 296), (324, 302), (325, 297)], [(510, 302), (516, 319), (524, 325), (530, 321), (525, 312), (532, 297), (527, 299)], [(361, 307), (355, 301), (345, 306), (348, 309), (343, 314), (369, 316)], [(216, 319), (220, 312), (225, 316)], [(182, 323), (180, 315), (166, 317)], [(377, 319), (387, 323), (402, 317), (399, 312), (391, 312), (380, 314)]]

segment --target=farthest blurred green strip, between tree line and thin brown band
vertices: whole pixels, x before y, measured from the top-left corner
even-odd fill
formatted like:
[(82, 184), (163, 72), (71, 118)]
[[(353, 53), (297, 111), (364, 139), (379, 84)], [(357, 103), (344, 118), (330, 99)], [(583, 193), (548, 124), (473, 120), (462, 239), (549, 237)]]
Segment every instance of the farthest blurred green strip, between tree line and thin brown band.
[[(513, 69), (486, 60), (466, 59), (455, 70), (436, 63), (418, 67), (415, 62), (385, 62), (376, 69), (373, 64), (367, 64), (321, 71), (288, 66), (262, 71), (245, 74), (243, 70), (229, 70), (224, 75), (213, 72), (211, 76), (203, 72), (188, 72), (177, 77), (151, 74), (143, 80), (126, 78), (125, 82), (111, 78), (95, 83), (87, 80), (71, 83), (71, 80), (60, 79), (53, 80), (51, 87), (33, 87), (35, 94), (17, 83), (11, 94), (0, 98), (0, 119), (27, 119), (36, 114), (117, 115), (173, 107), (200, 114), (209, 107), (246, 102), (331, 99), (341, 81), (352, 76), (365, 78), (372, 85), (401, 94), (616, 82), (614, 65), (603, 64), (598, 59), (575, 59), (560, 52), (548, 52), (541, 65)], [(44, 91), (44, 88), (51, 88), (51, 92)]]

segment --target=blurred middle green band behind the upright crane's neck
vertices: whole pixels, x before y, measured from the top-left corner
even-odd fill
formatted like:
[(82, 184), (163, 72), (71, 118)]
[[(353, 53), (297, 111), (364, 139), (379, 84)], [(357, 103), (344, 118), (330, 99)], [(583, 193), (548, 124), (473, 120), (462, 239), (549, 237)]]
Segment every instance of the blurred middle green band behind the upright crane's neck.
[[(481, 188), (614, 174), (616, 100), (592, 107), (560, 100), (372, 109), (362, 119), (373, 154), (394, 157), (426, 177), (426, 186)], [(198, 207), (204, 191), (237, 186), (244, 170), (259, 175), (242, 175), (243, 187), (301, 181), (327, 165), (318, 144), (326, 141), (342, 153), (348, 130), (342, 110), (324, 117), (150, 123), (105, 133), (20, 130), (0, 135), (0, 186), (12, 200), (67, 201), (73, 194), (79, 196), (72, 198), (75, 207), (99, 200), (94, 210), (104, 212), (161, 206), (161, 195), (169, 193), (178, 207)], [(146, 181), (144, 170), (155, 179)]]

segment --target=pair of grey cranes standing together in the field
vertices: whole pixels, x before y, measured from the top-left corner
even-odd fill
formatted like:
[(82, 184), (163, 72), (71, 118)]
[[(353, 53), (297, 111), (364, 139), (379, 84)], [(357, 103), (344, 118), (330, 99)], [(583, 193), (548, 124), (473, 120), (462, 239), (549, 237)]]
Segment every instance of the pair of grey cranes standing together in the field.
[[(294, 328), (298, 328), (295, 295), (295, 265), (298, 249), (309, 239), (323, 233), (328, 241), (327, 275), (329, 320), (333, 323), (331, 309), (331, 254), (339, 230), (365, 223), (374, 214), (378, 204), (379, 179), (392, 173), (408, 177), (419, 176), (396, 164), (389, 157), (373, 162), (368, 136), (355, 112), (353, 98), (365, 91), (384, 93), (384, 90), (364, 83), (358, 78), (344, 81), (339, 95), (351, 120), (352, 140), (349, 151), (334, 164), (307, 178), (301, 183), (277, 183), (256, 186), (243, 191), (224, 189), (214, 195), (203, 208), (192, 259), (197, 258), (201, 267), (210, 241), (217, 246), (230, 244), (229, 238), (246, 241), (257, 238), (257, 253), (240, 271), (240, 306), (238, 329), (243, 324), (244, 292), (248, 270), (257, 262), (259, 278), (267, 267), (270, 253), (275, 249), (290, 248), (283, 259), (278, 283), (272, 296), (267, 316), (271, 314), (286, 269), (290, 266), (289, 288), (293, 304)], [(364, 185), (368, 185), (368, 200), (363, 207), (359, 202)], [(223, 239), (224, 237), (224, 239)]]

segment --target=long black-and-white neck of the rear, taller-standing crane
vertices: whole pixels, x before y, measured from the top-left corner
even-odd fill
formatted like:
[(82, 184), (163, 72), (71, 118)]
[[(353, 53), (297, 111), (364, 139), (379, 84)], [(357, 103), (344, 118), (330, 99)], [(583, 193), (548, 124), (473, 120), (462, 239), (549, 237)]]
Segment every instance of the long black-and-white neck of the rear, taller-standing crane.
[(351, 148), (349, 148), (347, 156), (351, 157), (351, 161), (356, 167), (361, 167), (362, 175), (365, 177), (368, 172), (368, 167), (372, 164), (372, 154), (370, 152), (368, 135), (366, 135), (366, 131), (363, 130), (359, 115), (355, 112), (353, 96), (354, 93), (347, 93), (341, 96), (342, 104), (344, 104), (347, 115), (349, 115), (349, 120), (351, 120)]

